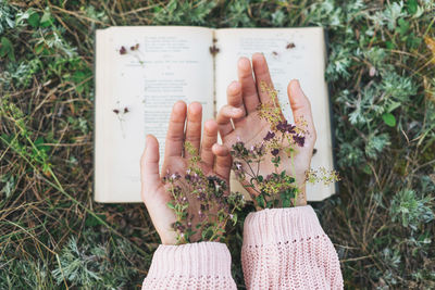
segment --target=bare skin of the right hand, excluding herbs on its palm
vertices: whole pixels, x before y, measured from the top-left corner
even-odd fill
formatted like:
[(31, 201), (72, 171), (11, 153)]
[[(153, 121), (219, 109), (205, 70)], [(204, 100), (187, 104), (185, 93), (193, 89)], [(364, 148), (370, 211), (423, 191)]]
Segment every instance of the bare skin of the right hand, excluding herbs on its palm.
[[(264, 81), (268, 87), (273, 88), (268, 63), (261, 53), (252, 55), (253, 74), (250, 61), (247, 58), (240, 58), (238, 61), (238, 81), (233, 81), (227, 88), (227, 102), (217, 114), (219, 131), (222, 136), (224, 146), (232, 148), (238, 140), (245, 142), (246, 148), (259, 144), (269, 131), (271, 126), (268, 121), (260, 118), (258, 106), (260, 103), (272, 102), (271, 97), (261, 90), (260, 84)], [(290, 162), (285, 153), (281, 153), (282, 166), (286, 173), (295, 177), (300, 189), (296, 205), (306, 205), (306, 171), (309, 169), (316, 133), (314, 129), (311, 114), (311, 105), (308, 98), (303, 94), (298, 80), (291, 80), (287, 87), (288, 100), (291, 105), (293, 115), (297, 126), (306, 127), (303, 147), (297, 147), (297, 154)], [(233, 119), (234, 128), (231, 123)], [(284, 121), (284, 116), (283, 116)], [(303, 124), (302, 124), (303, 123)], [(284, 146), (288, 146), (284, 143)], [(275, 169), (272, 163), (273, 155), (268, 152), (265, 161), (261, 163), (259, 174), (266, 176)], [(291, 165), (294, 163), (294, 166)], [(245, 180), (249, 184), (248, 178)], [(251, 194), (254, 191), (247, 188)]]

